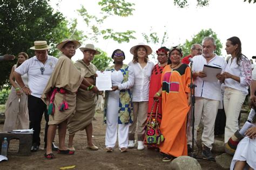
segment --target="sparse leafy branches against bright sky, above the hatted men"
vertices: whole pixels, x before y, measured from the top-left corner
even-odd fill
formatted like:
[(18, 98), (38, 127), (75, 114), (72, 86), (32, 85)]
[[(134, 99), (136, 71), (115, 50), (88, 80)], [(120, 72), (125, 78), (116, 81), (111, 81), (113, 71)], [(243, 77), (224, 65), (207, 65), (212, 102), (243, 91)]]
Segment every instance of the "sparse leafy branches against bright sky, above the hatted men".
[(133, 36), (135, 31), (127, 30), (125, 32), (114, 32), (111, 28), (100, 29), (104, 20), (110, 16), (131, 16), (134, 11), (132, 8), (134, 5), (133, 3), (128, 3), (124, 0), (102, 0), (98, 4), (102, 6), (101, 12), (99, 12), (102, 13), (102, 16), (99, 17), (90, 15), (83, 5), (78, 10), (79, 15), (83, 17), (87, 25), (87, 28), (85, 29), (87, 39), (92, 39), (97, 42), (98, 38), (102, 37), (103, 39), (113, 39), (119, 43), (130, 42), (131, 39), (136, 39)]

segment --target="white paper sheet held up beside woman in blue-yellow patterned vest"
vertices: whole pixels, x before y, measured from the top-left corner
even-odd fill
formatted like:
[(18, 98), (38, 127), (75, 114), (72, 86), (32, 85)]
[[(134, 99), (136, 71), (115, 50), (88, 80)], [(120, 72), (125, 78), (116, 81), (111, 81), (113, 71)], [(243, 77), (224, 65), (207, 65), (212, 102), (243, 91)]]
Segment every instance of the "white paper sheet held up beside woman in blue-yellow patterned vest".
[(97, 71), (96, 74), (98, 75), (96, 77), (96, 86), (99, 91), (112, 90), (111, 71)]

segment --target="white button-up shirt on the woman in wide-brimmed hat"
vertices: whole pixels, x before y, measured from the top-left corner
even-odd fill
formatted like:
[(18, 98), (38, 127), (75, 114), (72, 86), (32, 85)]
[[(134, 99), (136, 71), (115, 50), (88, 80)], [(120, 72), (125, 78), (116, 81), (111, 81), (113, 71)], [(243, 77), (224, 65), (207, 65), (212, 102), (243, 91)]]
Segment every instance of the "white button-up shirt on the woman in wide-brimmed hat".
[(138, 62), (129, 63), (129, 66), (134, 70), (134, 86), (132, 88), (132, 101), (133, 102), (146, 102), (149, 101), (149, 83), (154, 68), (154, 63), (147, 61), (144, 68)]

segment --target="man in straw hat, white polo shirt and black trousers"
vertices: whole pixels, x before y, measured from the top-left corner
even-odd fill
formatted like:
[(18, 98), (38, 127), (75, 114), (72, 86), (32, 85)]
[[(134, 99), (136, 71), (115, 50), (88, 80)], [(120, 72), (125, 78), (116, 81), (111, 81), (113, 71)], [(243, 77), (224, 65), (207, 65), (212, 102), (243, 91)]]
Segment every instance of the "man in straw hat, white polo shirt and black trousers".
[[(48, 49), (51, 46), (47, 45), (46, 41), (35, 41), (35, 46), (30, 49), (35, 50), (35, 56), (24, 61), (21, 66), (15, 69), (15, 80), (22, 88), (24, 93), (28, 95), (28, 109), (30, 129), (33, 129), (33, 139), (31, 151), (36, 152), (40, 145), (41, 121), (44, 114), (45, 117), (45, 136), (44, 142), (46, 147), (46, 133), (48, 130), (49, 116), (47, 115), (46, 104), (41, 100), (41, 95), (52, 74), (53, 69), (58, 61), (57, 58), (48, 55)], [(22, 81), (22, 75), (28, 74), (29, 86), (25, 86)], [(53, 146), (54, 147), (54, 146)]]

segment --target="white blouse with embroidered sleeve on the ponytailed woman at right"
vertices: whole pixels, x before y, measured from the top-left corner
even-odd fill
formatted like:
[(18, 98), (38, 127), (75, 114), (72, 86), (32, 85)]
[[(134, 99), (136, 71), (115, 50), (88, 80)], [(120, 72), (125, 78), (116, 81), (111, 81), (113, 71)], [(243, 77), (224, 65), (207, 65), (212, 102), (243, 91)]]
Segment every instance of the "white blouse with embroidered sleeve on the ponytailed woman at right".
[(252, 68), (250, 60), (243, 58), (239, 65), (237, 64), (237, 58), (235, 57), (233, 61), (228, 60), (225, 72), (233, 74), (240, 77), (240, 83), (233, 79), (225, 79), (224, 87), (230, 87), (236, 90), (242, 91), (245, 95), (248, 94), (248, 86), (252, 82)]

